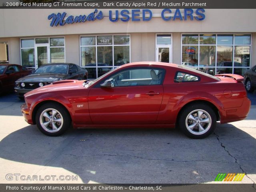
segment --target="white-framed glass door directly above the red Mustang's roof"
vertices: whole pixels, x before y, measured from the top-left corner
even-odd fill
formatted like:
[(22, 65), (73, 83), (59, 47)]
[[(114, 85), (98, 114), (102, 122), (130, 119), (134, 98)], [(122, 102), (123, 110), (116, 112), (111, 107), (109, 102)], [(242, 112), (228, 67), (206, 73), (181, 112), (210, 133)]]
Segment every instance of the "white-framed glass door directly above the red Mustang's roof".
[(156, 46), (156, 61), (170, 63), (171, 58), (171, 46), (170, 45), (157, 45)]

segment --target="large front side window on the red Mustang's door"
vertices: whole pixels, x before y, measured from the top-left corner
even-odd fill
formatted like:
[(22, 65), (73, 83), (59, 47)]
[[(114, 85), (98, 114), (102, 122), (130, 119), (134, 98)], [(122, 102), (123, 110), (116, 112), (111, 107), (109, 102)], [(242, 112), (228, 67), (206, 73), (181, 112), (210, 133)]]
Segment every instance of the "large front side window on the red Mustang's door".
[(160, 85), (164, 80), (164, 70), (158, 68), (138, 68), (124, 70), (110, 78), (112, 86)]

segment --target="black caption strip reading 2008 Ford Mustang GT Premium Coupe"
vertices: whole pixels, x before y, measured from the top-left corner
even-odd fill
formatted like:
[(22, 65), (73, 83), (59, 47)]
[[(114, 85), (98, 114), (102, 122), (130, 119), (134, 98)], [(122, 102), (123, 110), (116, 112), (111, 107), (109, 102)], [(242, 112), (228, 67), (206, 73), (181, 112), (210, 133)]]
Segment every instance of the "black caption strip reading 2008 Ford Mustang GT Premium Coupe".
[(256, 9), (256, 0), (6, 0), (0, 8), (53, 9)]

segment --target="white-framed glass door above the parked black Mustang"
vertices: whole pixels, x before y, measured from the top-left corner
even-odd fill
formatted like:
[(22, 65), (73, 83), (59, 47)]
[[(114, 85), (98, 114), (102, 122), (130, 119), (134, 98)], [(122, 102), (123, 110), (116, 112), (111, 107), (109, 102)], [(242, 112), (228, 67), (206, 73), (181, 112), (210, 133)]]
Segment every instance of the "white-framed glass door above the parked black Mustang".
[(49, 44), (36, 45), (36, 69), (47, 63), (50, 63)]

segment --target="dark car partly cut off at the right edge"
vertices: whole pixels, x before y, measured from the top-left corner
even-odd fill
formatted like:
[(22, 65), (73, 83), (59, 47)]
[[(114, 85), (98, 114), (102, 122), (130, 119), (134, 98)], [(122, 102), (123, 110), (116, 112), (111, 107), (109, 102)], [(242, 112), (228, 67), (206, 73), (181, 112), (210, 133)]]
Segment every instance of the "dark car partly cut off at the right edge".
[(256, 66), (244, 72), (244, 85), (248, 92), (253, 92), (256, 88)]

